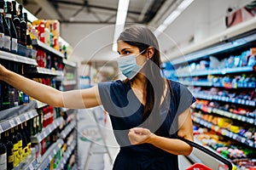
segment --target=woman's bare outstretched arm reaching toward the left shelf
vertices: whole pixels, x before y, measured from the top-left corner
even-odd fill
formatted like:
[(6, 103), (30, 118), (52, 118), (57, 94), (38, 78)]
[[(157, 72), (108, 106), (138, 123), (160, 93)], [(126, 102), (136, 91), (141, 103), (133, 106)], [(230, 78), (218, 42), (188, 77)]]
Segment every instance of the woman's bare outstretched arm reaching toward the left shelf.
[(14, 88), (55, 107), (84, 109), (101, 104), (97, 87), (61, 92), (39, 82), (22, 77), (0, 65), (0, 80), (9, 83)]

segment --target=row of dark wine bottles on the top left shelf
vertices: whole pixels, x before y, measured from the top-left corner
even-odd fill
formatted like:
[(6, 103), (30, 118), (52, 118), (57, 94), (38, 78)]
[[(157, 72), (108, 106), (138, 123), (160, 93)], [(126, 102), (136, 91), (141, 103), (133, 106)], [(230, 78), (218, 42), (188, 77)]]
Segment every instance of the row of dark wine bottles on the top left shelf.
[(27, 14), (22, 8), (19, 5), (17, 12), (15, 1), (0, 0), (0, 48), (15, 54), (19, 46), (26, 46)]

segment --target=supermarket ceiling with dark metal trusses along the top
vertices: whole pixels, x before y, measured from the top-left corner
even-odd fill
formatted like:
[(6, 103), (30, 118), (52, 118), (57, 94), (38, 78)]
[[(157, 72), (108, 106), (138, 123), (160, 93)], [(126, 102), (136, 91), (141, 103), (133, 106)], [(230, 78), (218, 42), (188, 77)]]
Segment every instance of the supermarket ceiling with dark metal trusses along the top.
[[(178, 0), (167, 0), (168, 6)], [(114, 24), (118, 0), (18, 0), (38, 18), (56, 19), (70, 24)], [(148, 24), (159, 14), (166, 0), (131, 0), (128, 23)]]

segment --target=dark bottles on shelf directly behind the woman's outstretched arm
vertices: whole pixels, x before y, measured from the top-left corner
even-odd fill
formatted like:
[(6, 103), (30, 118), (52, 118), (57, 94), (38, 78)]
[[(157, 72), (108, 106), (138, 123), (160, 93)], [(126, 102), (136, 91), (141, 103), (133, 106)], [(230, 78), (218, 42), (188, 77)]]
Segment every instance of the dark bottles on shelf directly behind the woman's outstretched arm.
[[(0, 59), (1, 65), (10, 71), (23, 75), (23, 66), (20, 63)], [(0, 82), (0, 111), (29, 103), (29, 96), (5, 82)]]

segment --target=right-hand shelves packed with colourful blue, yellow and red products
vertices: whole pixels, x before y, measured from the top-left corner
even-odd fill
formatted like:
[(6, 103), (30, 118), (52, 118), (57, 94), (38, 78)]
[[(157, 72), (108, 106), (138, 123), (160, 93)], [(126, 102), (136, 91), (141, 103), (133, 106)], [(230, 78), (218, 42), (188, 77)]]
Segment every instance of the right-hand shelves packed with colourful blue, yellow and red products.
[(247, 32), (187, 54), (187, 65), (173, 60), (164, 71), (197, 99), (191, 107), (195, 141), (230, 159), (234, 169), (256, 168), (255, 42), (255, 33)]

